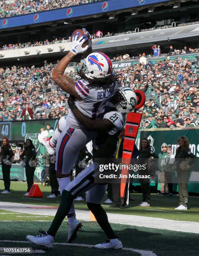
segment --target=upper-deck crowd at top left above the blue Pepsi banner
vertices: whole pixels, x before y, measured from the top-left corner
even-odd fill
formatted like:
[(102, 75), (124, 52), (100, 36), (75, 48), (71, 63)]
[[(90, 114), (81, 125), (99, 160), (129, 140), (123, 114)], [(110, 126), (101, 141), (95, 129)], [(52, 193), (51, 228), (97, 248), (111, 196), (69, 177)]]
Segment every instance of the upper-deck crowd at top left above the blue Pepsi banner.
[(8, 18), (27, 13), (63, 8), (71, 5), (93, 3), (101, 0), (13, 0), (7, 3), (5, 0), (0, 3), (0, 18)]

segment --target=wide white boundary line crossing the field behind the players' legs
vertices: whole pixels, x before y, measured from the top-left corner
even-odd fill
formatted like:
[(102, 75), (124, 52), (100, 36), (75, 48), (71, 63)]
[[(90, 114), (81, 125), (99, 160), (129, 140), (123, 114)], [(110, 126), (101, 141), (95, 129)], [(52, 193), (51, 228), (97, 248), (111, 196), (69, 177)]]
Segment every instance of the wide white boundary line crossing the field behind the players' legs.
[[(28, 214), (34, 214), (34, 215), (44, 215), (44, 216), (46, 215), (55, 216), (55, 213), (57, 212), (57, 209), (55, 208), (34, 209), (30, 207), (48, 207), (48, 206), (28, 205), (28, 204), (13, 203), (13, 202), (0, 202), (1, 210), (28, 213)], [(116, 214), (116, 213), (107, 213), (107, 215), (110, 223), (119, 223), (119, 224), (129, 225), (129, 226), (165, 229), (165, 230), (179, 231), (179, 232), (185, 232), (185, 233), (199, 234), (198, 222), (168, 220), (163, 218), (153, 218), (153, 217), (146, 217), (146, 216), (125, 215), (125, 214)], [(79, 220), (90, 221), (89, 211), (76, 210), (76, 216)]]

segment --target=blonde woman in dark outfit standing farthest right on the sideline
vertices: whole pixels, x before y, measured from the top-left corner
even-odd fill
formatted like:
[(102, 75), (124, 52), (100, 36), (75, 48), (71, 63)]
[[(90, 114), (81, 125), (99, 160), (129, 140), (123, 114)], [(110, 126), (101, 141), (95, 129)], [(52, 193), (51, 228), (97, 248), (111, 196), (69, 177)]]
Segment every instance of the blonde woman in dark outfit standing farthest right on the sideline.
[(178, 139), (179, 147), (176, 148), (175, 166), (177, 171), (178, 191), (179, 191), (179, 206), (176, 210), (187, 210), (188, 202), (188, 179), (190, 166), (196, 161), (196, 156), (189, 149), (189, 139), (186, 136), (181, 136)]

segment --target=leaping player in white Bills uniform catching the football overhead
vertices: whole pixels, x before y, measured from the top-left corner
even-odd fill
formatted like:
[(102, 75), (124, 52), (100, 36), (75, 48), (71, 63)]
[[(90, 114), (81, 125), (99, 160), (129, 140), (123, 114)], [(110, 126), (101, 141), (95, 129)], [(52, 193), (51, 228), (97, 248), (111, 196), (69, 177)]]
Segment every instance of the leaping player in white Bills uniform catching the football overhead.
[[(72, 40), (71, 51), (53, 69), (52, 78), (62, 90), (76, 98), (75, 105), (81, 113), (92, 120), (98, 120), (116, 91), (118, 76), (113, 72), (111, 60), (101, 52), (90, 53), (83, 60), (82, 67), (77, 72), (81, 79), (77, 82), (64, 75), (65, 68), (73, 57), (78, 53), (85, 52), (88, 46), (91, 46), (90, 41), (88, 46), (82, 47), (86, 36), (79, 38), (77, 34)], [(91, 47), (89, 51), (91, 51)], [(71, 181), (70, 172), (79, 151), (96, 135), (96, 131), (88, 131), (79, 123), (70, 110), (66, 118), (60, 119), (58, 128), (51, 139), (39, 138), (49, 154), (54, 154), (54, 151), (56, 153), (55, 170), (57, 171), (60, 194)], [(81, 223), (76, 220), (74, 204), (72, 204), (67, 217), (68, 241), (71, 241), (74, 231), (81, 228)]]

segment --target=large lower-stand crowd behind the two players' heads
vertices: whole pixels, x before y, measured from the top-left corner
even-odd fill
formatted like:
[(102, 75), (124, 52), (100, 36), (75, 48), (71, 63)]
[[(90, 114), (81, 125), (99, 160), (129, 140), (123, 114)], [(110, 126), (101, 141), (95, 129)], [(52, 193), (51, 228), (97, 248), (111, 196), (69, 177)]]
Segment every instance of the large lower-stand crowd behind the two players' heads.
[[(127, 55), (127, 54), (126, 54)], [(145, 56), (142, 56), (144, 59)], [(145, 58), (146, 59), (146, 58)], [(140, 59), (141, 60), (141, 59)], [(68, 95), (50, 77), (53, 64), (0, 69), (0, 121), (60, 118), (68, 113)], [(146, 59), (116, 69), (120, 86), (144, 90), (143, 128), (199, 125), (199, 54), (194, 61)], [(67, 73), (71, 79), (77, 74)]]

